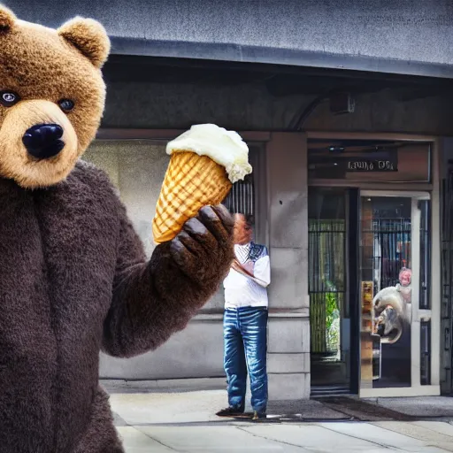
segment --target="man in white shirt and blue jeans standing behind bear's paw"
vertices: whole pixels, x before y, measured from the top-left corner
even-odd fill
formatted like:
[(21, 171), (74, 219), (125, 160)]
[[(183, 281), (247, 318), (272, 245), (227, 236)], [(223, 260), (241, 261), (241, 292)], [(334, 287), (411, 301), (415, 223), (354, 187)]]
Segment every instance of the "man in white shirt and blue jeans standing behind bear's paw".
[(253, 419), (265, 418), (267, 405), (267, 286), (271, 282), (269, 254), (251, 241), (253, 220), (234, 215), (234, 254), (224, 280), (224, 367), (228, 407), (219, 417), (240, 417), (244, 412), (247, 372), (250, 374)]

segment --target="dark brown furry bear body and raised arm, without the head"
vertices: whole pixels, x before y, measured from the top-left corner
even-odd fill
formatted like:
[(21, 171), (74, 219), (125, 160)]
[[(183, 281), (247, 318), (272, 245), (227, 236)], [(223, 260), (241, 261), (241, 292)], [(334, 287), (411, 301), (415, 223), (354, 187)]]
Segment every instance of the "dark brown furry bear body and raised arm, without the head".
[(147, 263), (96, 168), (34, 191), (0, 178), (2, 452), (121, 451), (99, 350), (132, 357), (187, 325), (231, 262), (232, 219), (217, 212), (201, 211)]

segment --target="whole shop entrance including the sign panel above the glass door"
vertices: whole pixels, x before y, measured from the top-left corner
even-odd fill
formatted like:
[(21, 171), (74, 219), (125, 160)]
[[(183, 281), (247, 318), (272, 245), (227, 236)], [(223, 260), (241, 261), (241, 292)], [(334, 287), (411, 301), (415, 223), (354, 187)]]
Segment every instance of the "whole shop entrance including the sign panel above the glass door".
[(430, 150), (308, 141), (311, 395), (438, 392)]

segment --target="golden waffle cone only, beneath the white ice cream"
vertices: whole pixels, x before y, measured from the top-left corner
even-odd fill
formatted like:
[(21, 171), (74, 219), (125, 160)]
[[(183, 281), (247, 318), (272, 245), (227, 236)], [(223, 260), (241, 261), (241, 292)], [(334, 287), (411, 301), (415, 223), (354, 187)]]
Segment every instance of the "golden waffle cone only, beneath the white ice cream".
[(173, 152), (152, 223), (154, 241), (171, 241), (203, 206), (221, 203), (231, 187), (225, 168), (210, 157)]

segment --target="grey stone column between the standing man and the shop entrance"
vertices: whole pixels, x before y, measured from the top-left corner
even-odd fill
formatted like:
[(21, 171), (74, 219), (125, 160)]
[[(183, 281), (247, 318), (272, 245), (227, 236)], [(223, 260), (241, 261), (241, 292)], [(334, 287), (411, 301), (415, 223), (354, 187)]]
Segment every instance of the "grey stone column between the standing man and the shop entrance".
[(270, 401), (310, 397), (306, 135), (273, 133), (266, 147)]

